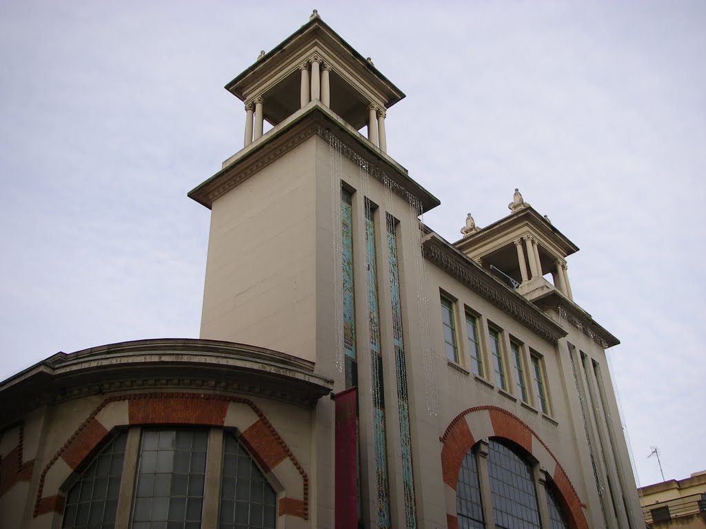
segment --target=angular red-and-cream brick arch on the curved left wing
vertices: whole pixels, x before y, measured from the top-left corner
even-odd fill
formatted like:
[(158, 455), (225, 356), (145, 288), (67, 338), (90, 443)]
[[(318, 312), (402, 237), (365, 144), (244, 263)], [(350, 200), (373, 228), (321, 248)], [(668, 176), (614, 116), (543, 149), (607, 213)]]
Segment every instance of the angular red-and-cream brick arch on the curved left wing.
[[(234, 423), (228, 419), (229, 406), (243, 404), (253, 414), (253, 422)], [(122, 419), (107, 421), (101, 412), (108, 406), (124, 406), (117, 410)], [(121, 413), (122, 412), (122, 413)], [(282, 497), (279, 501), (279, 516), (294, 516), (309, 519), (309, 476), (292, 454), (287, 442), (275, 430), (265, 414), (250, 399), (200, 393), (155, 392), (114, 396), (102, 401), (76, 429), (47, 466), (42, 469), (37, 487), (34, 516), (64, 511), (63, 494), (43, 496), (44, 482), (51, 477), (53, 482), (65, 482), (71, 473), (99, 448), (110, 430), (123, 425), (198, 425), (208, 427), (237, 427), (238, 439), (263, 468), (265, 474), (276, 476), (277, 468), (291, 464), (301, 478), (301, 499)], [(61, 463), (58, 463), (61, 461)], [(287, 487), (291, 489), (292, 487)], [(293, 490), (287, 490), (291, 494)]]

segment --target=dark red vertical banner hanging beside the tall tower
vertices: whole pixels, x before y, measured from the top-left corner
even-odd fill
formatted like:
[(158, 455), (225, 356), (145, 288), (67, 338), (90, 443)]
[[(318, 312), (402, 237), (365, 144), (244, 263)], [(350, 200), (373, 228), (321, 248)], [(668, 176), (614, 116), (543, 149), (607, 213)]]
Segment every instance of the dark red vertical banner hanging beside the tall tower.
[(336, 528), (356, 529), (358, 526), (358, 453), (356, 435), (356, 388), (333, 396), (336, 406)]

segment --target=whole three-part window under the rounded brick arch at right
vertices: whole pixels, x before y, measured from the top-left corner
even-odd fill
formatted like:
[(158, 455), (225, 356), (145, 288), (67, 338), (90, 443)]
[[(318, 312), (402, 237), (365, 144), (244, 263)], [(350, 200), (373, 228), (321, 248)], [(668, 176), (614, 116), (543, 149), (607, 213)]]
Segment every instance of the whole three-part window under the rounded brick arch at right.
[[(568, 529), (554, 485), (549, 480), (542, 485), (534, 464), (512, 443), (498, 439), (477, 443), (463, 458), (458, 473), (458, 527)], [(539, 504), (544, 498), (546, 509)]]

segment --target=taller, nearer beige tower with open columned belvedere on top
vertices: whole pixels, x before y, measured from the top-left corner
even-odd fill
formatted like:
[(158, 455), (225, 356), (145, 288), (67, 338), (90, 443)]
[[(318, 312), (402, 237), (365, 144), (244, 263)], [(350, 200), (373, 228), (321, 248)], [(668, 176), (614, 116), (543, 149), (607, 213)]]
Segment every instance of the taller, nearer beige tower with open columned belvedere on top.
[[(405, 319), (424, 309), (418, 217), (439, 202), (385, 152), (386, 111), (405, 95), (316, 12), (226, 88), (245, 104), (244, 147), (189, 193), (212, 212), (201, 338), (282, 351), (335, 391), (358, 387), (359, 518), (417, 527), (410, 414), (430, 381), (407, 365), (429, 338)], [(333, 403), (315, 413), (312, 516), (332, 527)]]

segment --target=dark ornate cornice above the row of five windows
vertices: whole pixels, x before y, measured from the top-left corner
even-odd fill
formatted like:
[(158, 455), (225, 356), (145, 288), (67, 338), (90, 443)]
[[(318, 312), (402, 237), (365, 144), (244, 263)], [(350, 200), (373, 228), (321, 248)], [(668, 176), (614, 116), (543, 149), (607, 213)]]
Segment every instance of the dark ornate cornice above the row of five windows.
[(531, 329), (542, 338), (556, 343), (566, 336), (566, 331), (553, 322), (542, 311), (522, 298), (493, 276), (487, 274), (468, 257), (455, 250), (436, 234), (427, 236), (422, 243), (424, 257), (434, 265), (479, 293), (497, 308)]

